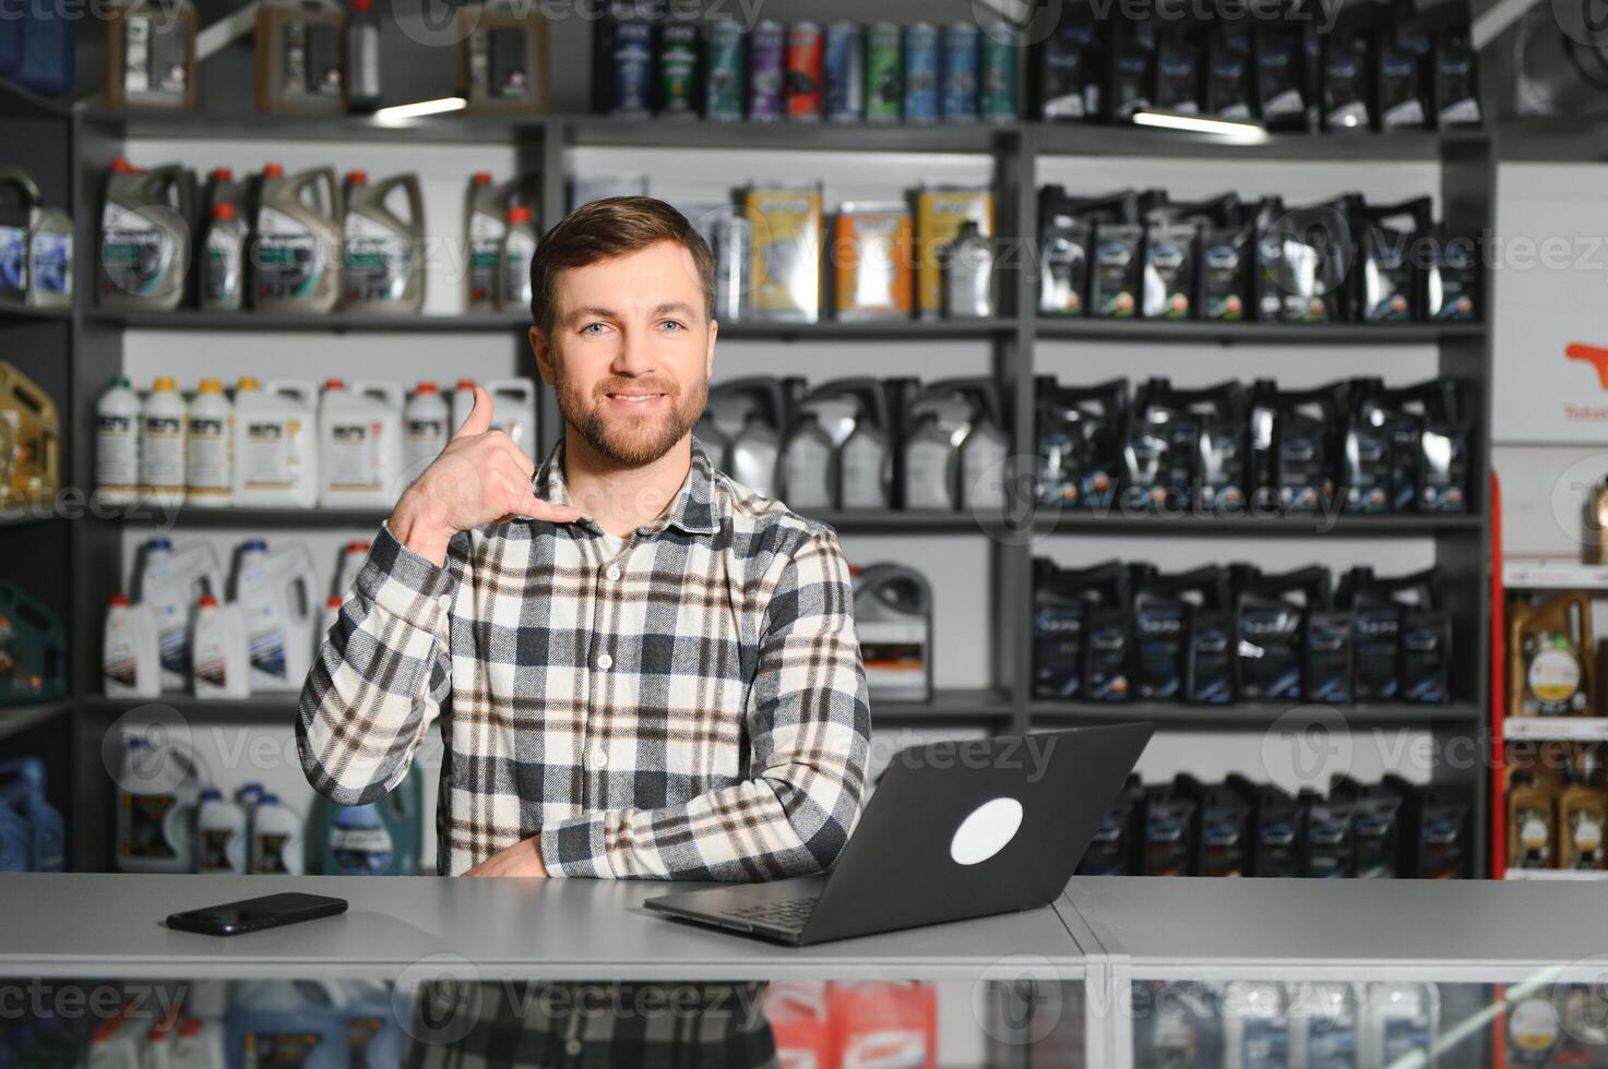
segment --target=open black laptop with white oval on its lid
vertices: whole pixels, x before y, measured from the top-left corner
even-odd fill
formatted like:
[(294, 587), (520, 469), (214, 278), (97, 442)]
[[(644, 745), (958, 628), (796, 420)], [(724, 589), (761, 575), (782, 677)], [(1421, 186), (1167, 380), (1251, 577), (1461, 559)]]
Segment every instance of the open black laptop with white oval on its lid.
[(1050, 905), (1155, 730), (1138, 722), (912, 746), (888, 765), (830, 873), (643, 905), (794, 947)]

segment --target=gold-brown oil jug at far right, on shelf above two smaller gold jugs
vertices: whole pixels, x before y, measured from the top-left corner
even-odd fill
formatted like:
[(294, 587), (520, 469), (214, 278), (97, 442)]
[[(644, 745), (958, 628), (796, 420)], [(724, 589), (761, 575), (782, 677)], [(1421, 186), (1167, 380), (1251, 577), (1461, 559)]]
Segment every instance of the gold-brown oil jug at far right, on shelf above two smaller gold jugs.
[(1582, 592), (1515, 604), (1508, 625), (1508, 715), (1589, 717), (1597, 709), (1592, 609)]

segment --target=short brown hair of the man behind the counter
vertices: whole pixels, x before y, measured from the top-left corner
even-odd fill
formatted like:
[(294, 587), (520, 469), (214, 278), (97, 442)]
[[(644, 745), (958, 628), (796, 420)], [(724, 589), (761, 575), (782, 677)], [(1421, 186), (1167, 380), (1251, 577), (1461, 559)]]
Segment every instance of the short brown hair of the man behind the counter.
[(704, 310), (714, 315), (714, 254), (687, 217), (651, 196), (606, 196), (564, 215), (535, 246), (531, 259), (531, 318), (553, 333), (553, 291), (558, 272), (587, 267), (659, 241), (674, 241), (693, 254)]

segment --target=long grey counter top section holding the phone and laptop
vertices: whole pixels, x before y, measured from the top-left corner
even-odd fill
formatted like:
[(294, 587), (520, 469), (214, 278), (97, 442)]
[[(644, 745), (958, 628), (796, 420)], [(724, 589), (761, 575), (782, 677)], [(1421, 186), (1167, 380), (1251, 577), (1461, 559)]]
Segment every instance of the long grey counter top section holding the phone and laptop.
[[(0, 976), (552, 981), (978, 979), (1019, 958), (1081, 979), (1053, 908), (818, 947), (781, 947), (642, 907), (698, 884), (441, 876), (0, 874)], [(346, 899), (346, 915), (244, 936), (169, 929), (169, 913), (283, 891)]]

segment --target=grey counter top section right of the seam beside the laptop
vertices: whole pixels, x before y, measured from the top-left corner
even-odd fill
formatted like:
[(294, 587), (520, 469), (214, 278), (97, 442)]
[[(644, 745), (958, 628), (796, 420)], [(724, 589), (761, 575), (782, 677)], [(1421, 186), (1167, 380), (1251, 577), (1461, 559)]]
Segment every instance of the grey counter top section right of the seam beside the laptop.
[(1608, 979), (1592, 883), (1076, 876), (1056, 908), (1130, 979)]

